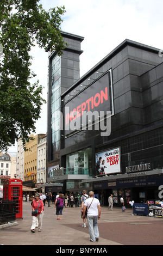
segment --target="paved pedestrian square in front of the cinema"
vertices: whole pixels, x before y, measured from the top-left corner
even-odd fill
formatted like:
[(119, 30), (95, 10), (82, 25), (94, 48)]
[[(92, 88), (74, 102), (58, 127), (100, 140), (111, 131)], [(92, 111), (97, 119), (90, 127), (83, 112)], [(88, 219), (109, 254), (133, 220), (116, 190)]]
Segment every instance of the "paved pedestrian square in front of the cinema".
[[(32, 224), (31, 204), (23, 202), (23, 218), (16, 225), (0, 230), (0, 245), (55, 245), (109, 246), (109, 245), (162, 245), (162, 218), (132, 215), (132, 210), (121, 208), (108, 211), (102, 206), (98, 221), (99, 241), (91, 242), (88, 228), (82, 227), (80, 207), (64, 208), (62, 221), (57, 220), (54, 204), (45, 206), (42, 231), (30, 232)], [(2, 248), (2, 247), (1, 247)], [(55, 247), (58, 248), (58, 247)]]

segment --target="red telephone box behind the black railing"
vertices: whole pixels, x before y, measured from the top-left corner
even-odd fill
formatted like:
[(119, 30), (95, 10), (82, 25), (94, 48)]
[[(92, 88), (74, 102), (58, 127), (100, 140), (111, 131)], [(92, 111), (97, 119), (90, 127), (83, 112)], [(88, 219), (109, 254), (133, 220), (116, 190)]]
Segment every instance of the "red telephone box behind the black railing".
[(9, 179), (3, 184), (3, 198), (16, 202), (16, 218), (22, 218), (23, 197), (22, 180)]

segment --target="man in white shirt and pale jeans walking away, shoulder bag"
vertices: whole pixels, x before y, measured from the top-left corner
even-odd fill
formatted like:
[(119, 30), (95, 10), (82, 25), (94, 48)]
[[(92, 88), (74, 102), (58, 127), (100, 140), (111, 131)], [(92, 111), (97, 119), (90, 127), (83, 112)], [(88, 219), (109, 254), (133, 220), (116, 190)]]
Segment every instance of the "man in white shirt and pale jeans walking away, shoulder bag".
[(94, 197), (94, 192), (89, 192), (89, 198), (84, 202), (83, 219), (85, 216), (85, 210), (87, 208), (87, 224), (89, 227), (90, 241), (96, 242), (99, 240), (99, 231), (97, 221), (101, 216), (101, 205), (99, 200)]

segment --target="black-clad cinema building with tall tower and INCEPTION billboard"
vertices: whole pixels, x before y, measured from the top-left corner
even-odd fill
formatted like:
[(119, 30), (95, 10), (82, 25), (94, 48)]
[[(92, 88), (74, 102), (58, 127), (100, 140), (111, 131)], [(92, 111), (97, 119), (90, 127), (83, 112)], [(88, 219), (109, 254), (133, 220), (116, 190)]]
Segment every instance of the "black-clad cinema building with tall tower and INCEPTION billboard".
[[(159, 200), (163, 185), (163, 57), (124, 40), (79, 77), (84, 38), (49, 53), (47, 187), (93, 190), (107, 205)], [(50, 184), (51, 183), (51, 184)]]

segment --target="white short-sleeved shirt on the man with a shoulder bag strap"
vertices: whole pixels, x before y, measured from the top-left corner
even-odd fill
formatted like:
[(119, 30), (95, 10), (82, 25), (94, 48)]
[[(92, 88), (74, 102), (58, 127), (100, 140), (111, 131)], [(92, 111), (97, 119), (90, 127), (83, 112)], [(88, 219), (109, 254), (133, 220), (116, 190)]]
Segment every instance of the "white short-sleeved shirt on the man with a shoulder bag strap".
[[(92, 202), (93, 200), (93, 202)], [(92, 202), (92, 204), (91, 204)], [(91, 206), (90, 206), (91, 204)], [(87, 208), (90, 208), (87, 210), (87, 216), (98, 216), (98, 205), (100, 205), (99, 200), (97, 198), (90, 197), (85, 200), (84, 205), (87, 206)]]

